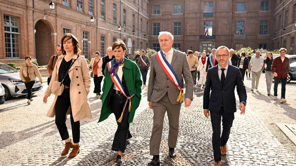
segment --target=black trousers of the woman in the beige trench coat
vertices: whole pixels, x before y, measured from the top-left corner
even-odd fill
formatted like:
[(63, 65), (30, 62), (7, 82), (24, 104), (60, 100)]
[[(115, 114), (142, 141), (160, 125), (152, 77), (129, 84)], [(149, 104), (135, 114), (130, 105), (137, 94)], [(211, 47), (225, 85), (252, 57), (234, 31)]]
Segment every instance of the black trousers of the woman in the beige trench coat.
[[(68, 132), (68, 129), (66, 126), (66, 113), (67, 113), (69, 106), (71, 106), (70, 88), (66, 88), (66, 89), (64, 89), (62, 95), (57, 97), (57, 102), (56, 102), (55, 123), (57, 125), (57, 129), (59, 130), (59, 134), (61, 135), (62, 140), (69, 138), (69, 132)], [(71, 120), (73, 142), (79, 143), (79, 141), (80, 141), (80, 121), (74, 122), (73, 115), (72, 115), (72, 109), (70, 109), (70, 120)]]

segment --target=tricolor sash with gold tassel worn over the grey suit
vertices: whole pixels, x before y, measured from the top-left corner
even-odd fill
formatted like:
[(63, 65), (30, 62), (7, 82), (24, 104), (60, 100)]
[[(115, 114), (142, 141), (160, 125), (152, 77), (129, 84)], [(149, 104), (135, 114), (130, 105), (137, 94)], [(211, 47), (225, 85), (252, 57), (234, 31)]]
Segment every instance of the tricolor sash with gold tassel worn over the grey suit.
[(173, 67), (170, 66), (168, 61), (163, 56), (162, 50), (156, 53), (156, 58), (160, 63), (161, 68), (163, 68), (163, 71), (165, 71), (165, 74), (168, 76), (168, 78), (176, 85), (176, 87), (178, 87), (178, 89), (180, 89), (180, 94), (177, 98), (177, 102), (180, 102), (180, 103), (183, 102), (183, 88), (184, 88), (183, 77), (182, 77), (182, 84), (181, 84)]

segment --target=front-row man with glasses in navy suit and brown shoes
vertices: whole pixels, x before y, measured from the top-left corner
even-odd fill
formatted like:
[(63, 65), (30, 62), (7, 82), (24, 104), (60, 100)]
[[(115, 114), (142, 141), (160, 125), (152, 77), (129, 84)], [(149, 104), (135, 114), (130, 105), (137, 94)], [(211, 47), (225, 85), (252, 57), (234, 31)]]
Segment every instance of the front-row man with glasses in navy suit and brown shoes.
[[(230, 128), (234, 120), (234, 112), (237, 111), (234, 89), (237, 87), (241, 114), (244, 114), (245, 111), (247, 92), (239, 68), (228, 64), (229, 49), (225, 46), (218, 47), (216, 59), (218, 65), (207, 71), (207, 81), (203, 95), (203, 109), (205, 117), (208, 118), (211, 115), (214, 166), (220, 166), (221, 155), (226, 154), (226, 143), (229, 139)], [(212, 90), (211, 93), (210, 90)], [(220, 137), (221, 117), (223, 131)]]

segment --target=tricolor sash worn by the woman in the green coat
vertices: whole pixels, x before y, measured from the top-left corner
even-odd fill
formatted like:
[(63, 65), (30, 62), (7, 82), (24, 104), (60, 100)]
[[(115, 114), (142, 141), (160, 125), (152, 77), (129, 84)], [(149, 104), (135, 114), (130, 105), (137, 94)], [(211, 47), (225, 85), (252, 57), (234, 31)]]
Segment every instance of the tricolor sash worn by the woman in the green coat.
[[(107, 67), (108, 67), (108, 71), (110, 71), (110, 68), (113, 66), (113, 61), (110, 61), (107, 63)], [(118, 77), (118, 74), (115, 74), (113, 76), (113, 73), (110, 74), (111, 76), (111, 79), (112, 79), (112, 82), (114, 83), (114, 85), (120, 90), (120, 92), (127, 98), (126, 99), (126, 103), (124, 104), (124, 107), (123, 107), (123, 111), (121, 113), (121, 116), (120, 118), (118, 119), (118, 122), (120, 123), (121, 120), (122, 120), (122, 116), (123, 116), (123, 113), (124, 113), (124, 110), (126, 109), (126, 105), (128, 103), (128, 100), (130, 100), (130, 103), (129, 103), (129, 107), (128, 107), (128, 112), (131, 111), (131, 98), (134, 97), (136, 95), (136, 87), (135, 87), (135, 93), (133, 95), (131, 95), (130, 97), (126, 96), (126, 93), (124, 92), (124, 89), (123, 89), (123, 85)]]

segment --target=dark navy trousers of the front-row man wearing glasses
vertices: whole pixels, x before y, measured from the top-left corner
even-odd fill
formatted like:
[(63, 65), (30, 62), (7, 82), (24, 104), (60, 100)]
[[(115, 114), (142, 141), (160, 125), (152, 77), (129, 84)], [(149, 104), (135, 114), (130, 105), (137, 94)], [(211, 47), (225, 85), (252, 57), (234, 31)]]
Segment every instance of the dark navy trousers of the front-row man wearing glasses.
[[(210, 111), (210, 117), (211, 117), (212, 128), (213, 128), (212, 145), (213, 145), (213, 151), (214, 151), (214, 160), (221, 161), (220, 147), (226, 145), (229, 139), (230, 128), (234, 120), (234, 113), (224, 112), (224, 108), (222, 106), (219, 112)], [(220, 137), (221, 117), (222, 117), (223, 131)]]

